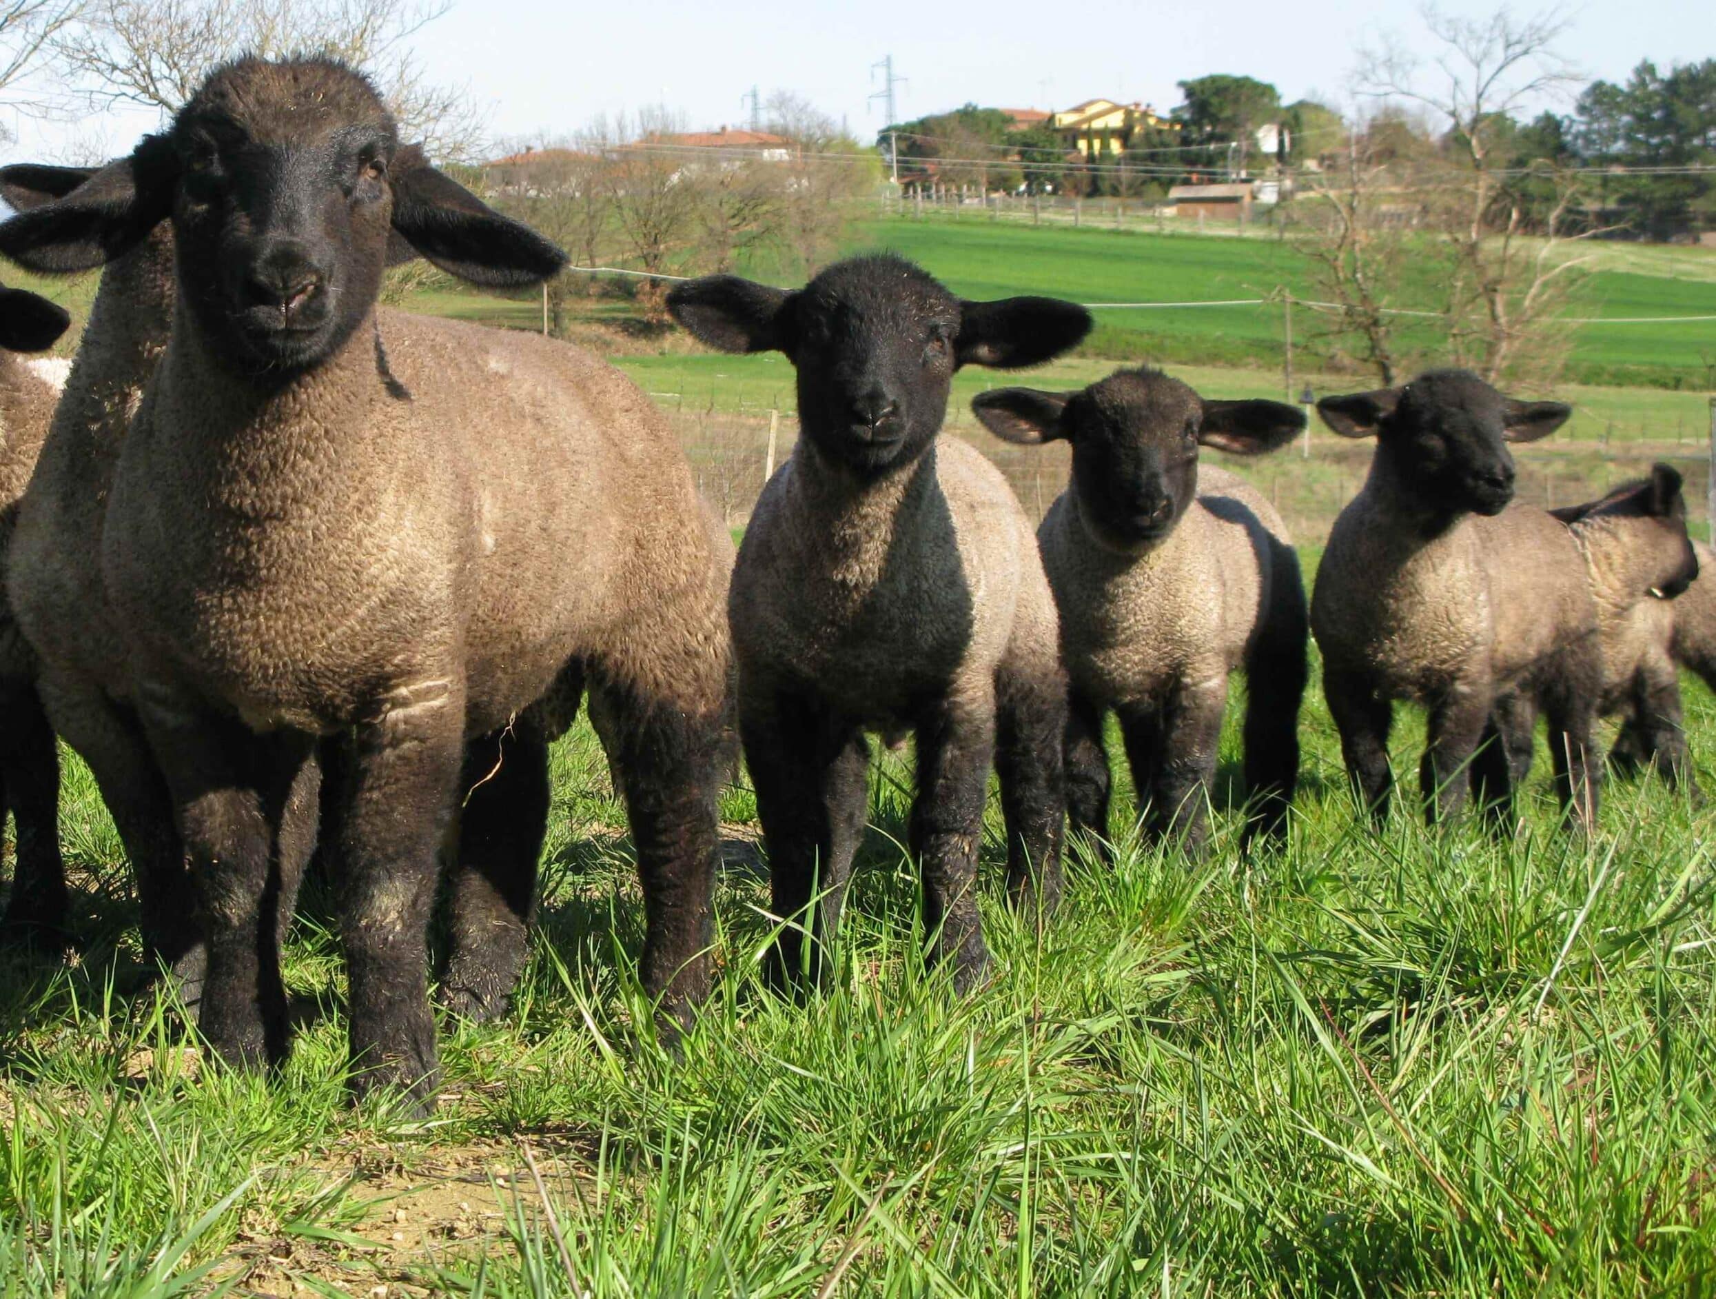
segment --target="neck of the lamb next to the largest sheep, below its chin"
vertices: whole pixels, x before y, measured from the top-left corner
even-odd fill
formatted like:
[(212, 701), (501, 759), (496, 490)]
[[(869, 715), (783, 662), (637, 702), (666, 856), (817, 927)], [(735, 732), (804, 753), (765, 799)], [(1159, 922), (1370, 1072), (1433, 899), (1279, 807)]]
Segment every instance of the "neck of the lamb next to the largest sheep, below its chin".
[(909, 465), (860, 479), (824, 456), (808, 438), (793, 451), (788, 513), (793, 537), (831, 571), (879, 571), (894, 537), (909, 530), (935, 498), (935, 443)]

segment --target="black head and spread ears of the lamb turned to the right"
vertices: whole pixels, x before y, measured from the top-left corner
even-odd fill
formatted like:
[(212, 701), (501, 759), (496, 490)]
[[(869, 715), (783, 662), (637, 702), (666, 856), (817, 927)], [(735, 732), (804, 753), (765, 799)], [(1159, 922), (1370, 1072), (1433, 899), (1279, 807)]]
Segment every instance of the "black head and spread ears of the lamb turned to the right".
[(1515, 402), (1469, 371), (1431, 371), (1404, 388), (1328, 396), (1318, 412), (1347, 438), (1378, 439), (1399, 482), (1435, 517), (1500, 515), (1514, 501), (1508, 443), (1544, 438), (1570, 410)]

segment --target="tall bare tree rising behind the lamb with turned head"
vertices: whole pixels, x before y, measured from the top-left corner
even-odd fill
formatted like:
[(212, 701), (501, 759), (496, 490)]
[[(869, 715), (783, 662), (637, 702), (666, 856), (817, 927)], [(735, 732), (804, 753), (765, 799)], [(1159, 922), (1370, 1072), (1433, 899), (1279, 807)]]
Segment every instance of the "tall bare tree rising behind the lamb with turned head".
[(1526, 239), (1498, 144), (1515, 112), (1577, 81), (1555, 51), (1568, 21), (1556, 10), (1517, 19), (1500, 9), (1488, 19), (1464, 19), (1435, 7), (1423, 17), (1435, 70), (1426, 72), (1424, 60), (1395, 41), (1364, 55), (1357, 88), (1419, 105), (1445, 132), (1443, 166), (1426, 177), (1424, 189), (1431, 220), (1452, 252), (1445, 280), (1452, 359), (1491, 381), (1527, 360), (1539, 378), (1550, 378), (1560, 350), (1553, 340), (1565, 336), (1555, 317), (1586, 266), (1567, 245), (1598, 232), (1568, 235), (1579, 175), (1544, 161), (1555, 192), (1551, 214), (1541, 235)]

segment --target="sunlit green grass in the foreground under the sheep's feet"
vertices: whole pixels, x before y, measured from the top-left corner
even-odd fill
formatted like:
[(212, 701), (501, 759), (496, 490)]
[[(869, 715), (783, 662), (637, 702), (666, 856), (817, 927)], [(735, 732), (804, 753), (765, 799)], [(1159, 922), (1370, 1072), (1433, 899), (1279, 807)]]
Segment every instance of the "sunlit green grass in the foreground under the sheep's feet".
[[(1689, 690), (1716, 782), (1716, 707)], [(625, 820), (580, 724), (515, 1012), (444, 1026), (431, 1124), (341, 1100), (324, 899), (293, 933), (297, 1050), (202, 1062), (139, 970), (120, 853), (74, 767), (84, 946), (0, 963), (0, 1292), (1704, 1296), (1716, 1287), (1713, 813), (1610, 782), (1594, 843), (1359, 825), (1321, 700), (1284, 856), (1122, 841), (995, 980), (916, 958), (906, 770), (875, 764), (839, 973), (764, 992), (753, 807), (722, 800), (722, 978), (647, 1030)], [(1402, 728), (1397, 764), (1416, 764)], [(1124, 795), (1122, 813), (1131, 808)]]

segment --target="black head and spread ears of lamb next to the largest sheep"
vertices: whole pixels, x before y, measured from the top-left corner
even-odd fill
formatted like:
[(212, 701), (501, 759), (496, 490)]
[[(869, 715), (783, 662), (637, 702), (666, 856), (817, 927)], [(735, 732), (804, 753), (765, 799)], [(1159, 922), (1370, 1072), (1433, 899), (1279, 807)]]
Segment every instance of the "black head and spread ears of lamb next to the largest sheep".
[(923, 453), (956, 369), (1035, 366), (1091, 324), (1054, 299), (966, 302), (885, 254), (836, 263), (798, 292), (712, 275), (674, 288), (668, 307), (722, 352), (784, 352), (798, 367), (805, 438), (865, 479)]

